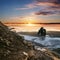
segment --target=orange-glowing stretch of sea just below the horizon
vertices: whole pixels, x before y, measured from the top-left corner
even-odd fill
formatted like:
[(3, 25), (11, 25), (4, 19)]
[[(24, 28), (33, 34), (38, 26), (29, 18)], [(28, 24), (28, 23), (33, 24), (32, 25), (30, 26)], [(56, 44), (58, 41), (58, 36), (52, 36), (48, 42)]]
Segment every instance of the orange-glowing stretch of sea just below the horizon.
[(8, 24), (9, 28), (14, 28), (16, 32), (37, 32), (41, 27), (47, 31), (60, 31), (60, 24)]

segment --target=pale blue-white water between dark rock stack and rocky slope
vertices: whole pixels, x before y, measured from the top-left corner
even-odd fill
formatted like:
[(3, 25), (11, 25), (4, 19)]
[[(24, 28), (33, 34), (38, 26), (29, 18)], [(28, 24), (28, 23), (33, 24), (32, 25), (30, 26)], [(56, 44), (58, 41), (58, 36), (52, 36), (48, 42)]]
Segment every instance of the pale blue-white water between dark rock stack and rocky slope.
[[(21, 35), (21, 34), (19, 34)], [(60, 48), (60, 38), (59, 37), (50, 37), (46, 35), (45, 38), (43, 37), (34, 37), (29, 35), (21, 35), (24, 36), (25, 40), (36, 42), (38, 44), (42, 44), (50, 49)]]

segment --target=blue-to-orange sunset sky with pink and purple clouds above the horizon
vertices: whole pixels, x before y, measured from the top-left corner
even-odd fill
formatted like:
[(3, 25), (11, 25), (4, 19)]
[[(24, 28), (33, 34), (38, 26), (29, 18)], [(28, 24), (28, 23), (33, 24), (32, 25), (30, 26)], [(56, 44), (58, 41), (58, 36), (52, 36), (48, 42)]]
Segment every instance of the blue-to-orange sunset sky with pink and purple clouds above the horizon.
[(60, 23), (60, 0), (0, 0), (0, 21), (22, 26)]

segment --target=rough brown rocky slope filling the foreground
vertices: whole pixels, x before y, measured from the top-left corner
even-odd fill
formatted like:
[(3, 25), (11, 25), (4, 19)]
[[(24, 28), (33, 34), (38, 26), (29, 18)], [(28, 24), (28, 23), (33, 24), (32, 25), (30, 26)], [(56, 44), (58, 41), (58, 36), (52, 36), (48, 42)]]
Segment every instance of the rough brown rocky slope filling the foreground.
[(60, 56), (48, 49), (35, 48), (32, 42), (0, 22), (0, 60), (60, 60)]

